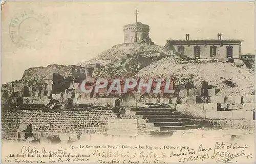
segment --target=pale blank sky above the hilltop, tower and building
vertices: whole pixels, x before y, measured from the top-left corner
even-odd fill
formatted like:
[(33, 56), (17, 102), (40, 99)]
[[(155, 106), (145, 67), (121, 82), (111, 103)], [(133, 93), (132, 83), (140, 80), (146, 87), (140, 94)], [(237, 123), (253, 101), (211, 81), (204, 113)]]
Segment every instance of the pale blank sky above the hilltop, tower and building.
[[(150, 26), (158, 45), (185, 39), (187, 33), (190, 39), (217, 39), (222, 33), (222, 39), (245, 40), (242, 54), (255, 53), (254, 2), (6, 2), (1, 12), (1, 83), (22, 78), (30, 67), (76, 64), (123, 43), (123, 26), (135, 23), (136, 9), (138, 21)], [(49, 19), (41, 48), (18, 48), (10, 37), (11, 19), (28, 10)]]

